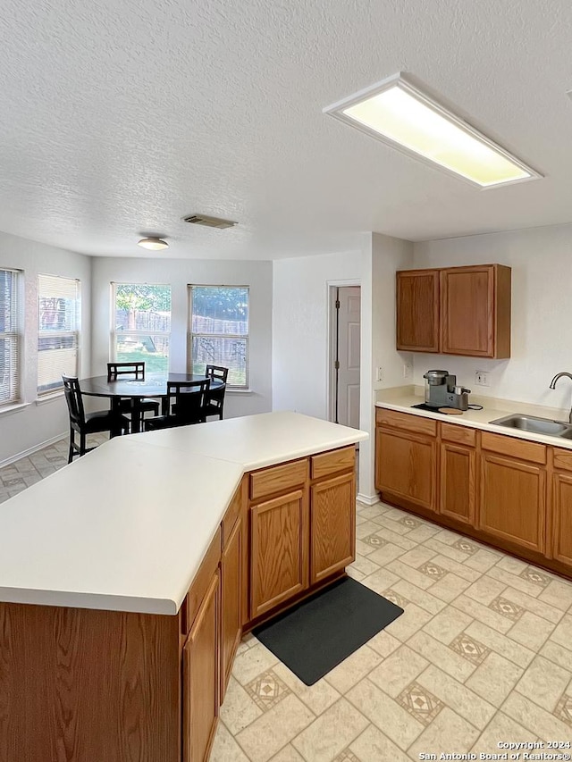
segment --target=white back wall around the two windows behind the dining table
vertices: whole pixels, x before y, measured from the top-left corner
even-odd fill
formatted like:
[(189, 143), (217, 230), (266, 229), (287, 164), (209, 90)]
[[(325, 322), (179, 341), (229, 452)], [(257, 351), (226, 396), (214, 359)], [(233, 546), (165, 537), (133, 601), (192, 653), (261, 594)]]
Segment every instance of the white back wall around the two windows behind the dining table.
[(92, 264), (92, 372), (106, 373), (110, 357), (111, 282), (171, 285), (172, 373), (187, 369), (189, 283), (250, 287), (250, 392), (227, 391), (224, 416), (265, 413), (272, 409), (272, 262), (230, 260), (130, 259), (94, 257)]

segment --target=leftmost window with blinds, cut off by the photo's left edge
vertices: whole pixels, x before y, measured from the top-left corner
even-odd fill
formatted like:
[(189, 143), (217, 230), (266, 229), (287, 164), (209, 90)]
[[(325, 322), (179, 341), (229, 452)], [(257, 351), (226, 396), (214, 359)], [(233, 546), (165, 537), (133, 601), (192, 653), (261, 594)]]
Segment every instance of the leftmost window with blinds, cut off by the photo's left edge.
[(0, 270), (0, 405), (20, 399), (19, 274)]

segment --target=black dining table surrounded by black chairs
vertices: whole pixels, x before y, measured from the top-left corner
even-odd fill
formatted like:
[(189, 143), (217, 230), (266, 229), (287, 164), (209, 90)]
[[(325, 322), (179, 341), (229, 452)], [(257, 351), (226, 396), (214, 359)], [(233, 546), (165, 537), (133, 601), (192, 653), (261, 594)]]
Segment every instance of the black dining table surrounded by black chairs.
[[(163, 401), (163, 414), (167, 406), (167, 382), (171, 381), (204, 381), (205, 376), (198, 373), (168, 373), (158, 375), (149, 373), (145, 379), (123, 379), (107, 381), (107, 376), (94, 376), (89, 379), (80, 379), (81, 394), (88, 397), (106, 397), (111, 399), (111, 409), (119, 414), (121, 399), (144, 399), (161, 398)], [(211, 379), (209, 389), (221, 389), (224, 382), (220, 379)], [(131, 415), (131, 433), (141, 431), (141, 418), (139, 415)], [(112, 432), (119, 433), (119, 432)]]

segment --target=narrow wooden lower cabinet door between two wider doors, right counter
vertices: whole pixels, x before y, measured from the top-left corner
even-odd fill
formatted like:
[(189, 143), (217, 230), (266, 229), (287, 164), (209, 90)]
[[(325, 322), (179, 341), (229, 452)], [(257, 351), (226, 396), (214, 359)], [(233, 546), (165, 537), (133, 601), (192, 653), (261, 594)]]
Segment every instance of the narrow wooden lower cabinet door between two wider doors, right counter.
[(442, 442), (439, 507), (443, 515), (475, 521), (475, 448)]

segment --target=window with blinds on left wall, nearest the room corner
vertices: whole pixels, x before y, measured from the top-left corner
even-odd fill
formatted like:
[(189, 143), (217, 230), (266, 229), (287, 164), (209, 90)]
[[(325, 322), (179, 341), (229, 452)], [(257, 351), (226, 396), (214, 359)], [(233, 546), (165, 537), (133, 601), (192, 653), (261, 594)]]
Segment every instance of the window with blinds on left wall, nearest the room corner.
[(38, 395), (62, 389), (62, 374), (78, 375), (80, 281), (38, 275)]

